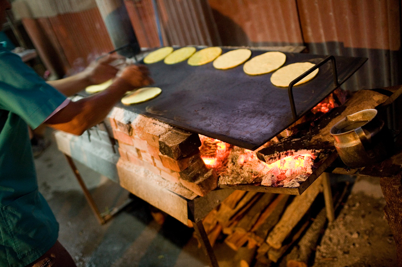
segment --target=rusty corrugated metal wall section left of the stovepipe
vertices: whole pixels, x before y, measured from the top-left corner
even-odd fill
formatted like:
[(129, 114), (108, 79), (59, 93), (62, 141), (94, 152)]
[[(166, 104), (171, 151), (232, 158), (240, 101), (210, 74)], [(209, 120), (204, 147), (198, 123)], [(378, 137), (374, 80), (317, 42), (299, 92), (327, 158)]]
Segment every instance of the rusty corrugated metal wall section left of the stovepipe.
[(46, 67), (59, 77), (114, 49), (97, 8), (22, 22)]

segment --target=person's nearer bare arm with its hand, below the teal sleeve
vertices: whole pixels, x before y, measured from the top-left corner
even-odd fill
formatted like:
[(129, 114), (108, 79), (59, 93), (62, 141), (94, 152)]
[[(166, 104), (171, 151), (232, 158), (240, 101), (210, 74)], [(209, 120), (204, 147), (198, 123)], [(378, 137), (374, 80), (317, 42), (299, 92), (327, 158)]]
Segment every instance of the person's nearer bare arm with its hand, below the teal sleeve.
[(108, 89), (76, 102), (71, 101), (45, 123), (54, 129), (81, 135), (86, 129), (102, 122), (127, 91), (152, 82), (145, 66), (129, 66)]

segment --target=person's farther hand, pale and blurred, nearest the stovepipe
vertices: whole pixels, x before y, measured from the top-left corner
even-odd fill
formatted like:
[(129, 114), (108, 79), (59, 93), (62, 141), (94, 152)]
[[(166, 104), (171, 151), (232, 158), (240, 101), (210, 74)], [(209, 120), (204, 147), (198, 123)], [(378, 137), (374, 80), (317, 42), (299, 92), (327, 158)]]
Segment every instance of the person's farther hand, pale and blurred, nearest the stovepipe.
[(119, 69), (110, 65), (110, 63), (118, 59), (125, 58), (119, 55), (107, 55), (89, 64), (84, 70), (89, 83), (92, 85), (101, 84), (115, 78)]

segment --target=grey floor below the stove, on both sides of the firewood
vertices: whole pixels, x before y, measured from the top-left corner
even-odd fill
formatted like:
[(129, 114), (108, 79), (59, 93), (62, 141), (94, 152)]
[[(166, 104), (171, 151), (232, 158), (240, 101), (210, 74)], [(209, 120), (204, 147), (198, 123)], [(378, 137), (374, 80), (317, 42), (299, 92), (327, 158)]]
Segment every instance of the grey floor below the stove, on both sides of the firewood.
[[(51, 130), (47, 131), (47, 136), (51, 138)], [(35, 160), (35, 164), (39, 190), (60, 223), (59, 241), (70, 252), (77, 266), (208, 266), (206, 256), (202, 249), (197, 248), (197, 241), (192, 237), (193, 229), (172, 217), (167, 217), (162, 226), (157, 224), (150, 214), (150, 205), (141, 199), (134, 199), (132, 204), (111, 221), (100, 225), (54, 141)], [(82, 164), (76, 165), (101, 212), (128, 198), (128, 191), (115, 182)], [(377, 266), (371, 263), (381, 262), (382, 266), (392, 266), (396, 262), (396, 251), (389, 226), (383, 217), (384, 200), (378, 182), (367, 184), (363, 180), (356, 183), (345, 206), (356, 205), (351, 201), (368, 205), (366, 213), (371, 215), (356, 216), (353, 214), (356, 208), (343, 208), (322, 238), (319, 253), (316, 255), (316, 265)], [(371, 211), (369, 205), (376, 209)], [(379, 218), (376, 225), (372, 223), (374, 218)], [(345, 232), (345, 224), (351, 225), (347, 228), (348, 232)], [(354, 229), (357, 228), (353, 225), (366, 225), (371, 230), (368, 232), (361, 226), (362, 229), (358, 230), (359, 237), (355, 238)], [(364, 231), (367, 234), (362, 234)], [(371, 232), (380, 234), (374, 235)], [(334, 236), (339, 239), (337, 243), (332, 241)], [(351, 239), (352, 236), (355, 239)], [(360, 240), (360, 243), (356, 240)], [(374, 247), (362, 249), (363, 244), (370, 243), (368, 241), (376, 243), (377, 240), (385, 241), (374, 250)], [(356, 243), (360, 244), (359, 248), (355, 247)], [(381, 247), (386, 253), (378, 253), (377, 249), (380, 248), (377, 247)], [(235, 260), (235, 252), (224, 242), (218, 241), (214, 251), (221, 267), (239, 266), (239, 262)], [(382, 257), (383, 260), (370, 262), (373, 251), (377, 251), (377, 259)], [(328, 258), (332, 261), (328, 261)]]

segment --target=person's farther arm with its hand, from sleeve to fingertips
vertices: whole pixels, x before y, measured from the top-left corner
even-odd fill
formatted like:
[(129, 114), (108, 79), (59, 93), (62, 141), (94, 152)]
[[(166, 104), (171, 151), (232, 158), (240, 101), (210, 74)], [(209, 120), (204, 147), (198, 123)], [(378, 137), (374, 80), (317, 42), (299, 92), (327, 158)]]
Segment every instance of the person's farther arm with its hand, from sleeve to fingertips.
[(83, 72), (47, 83), (65, 96), (72, 96), (90, 85), (100, 84), (115, 78), (119, 70), (111, 66), (110, 63), (121, 58), (117, 55), (105, 56), (92, 62)]

